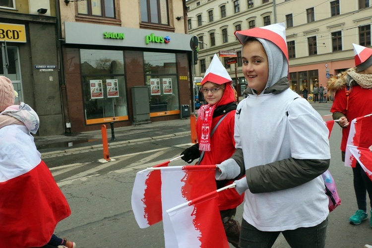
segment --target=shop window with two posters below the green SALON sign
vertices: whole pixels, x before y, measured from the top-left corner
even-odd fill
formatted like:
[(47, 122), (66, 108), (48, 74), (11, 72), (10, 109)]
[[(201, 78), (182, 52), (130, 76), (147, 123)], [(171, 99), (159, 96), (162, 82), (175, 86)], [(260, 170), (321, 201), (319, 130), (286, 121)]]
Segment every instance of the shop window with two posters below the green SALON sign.
[(128, 120), (123, 52), (80, 50), (86, 124)]

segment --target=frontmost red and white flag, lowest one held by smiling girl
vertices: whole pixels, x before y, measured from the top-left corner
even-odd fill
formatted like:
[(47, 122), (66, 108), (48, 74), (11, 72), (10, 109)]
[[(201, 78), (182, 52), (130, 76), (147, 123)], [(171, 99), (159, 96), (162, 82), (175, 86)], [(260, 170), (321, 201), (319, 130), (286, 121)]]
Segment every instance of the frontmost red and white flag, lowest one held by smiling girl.
[(179, 248), (229, 248), (213, 191), (167, 210)]

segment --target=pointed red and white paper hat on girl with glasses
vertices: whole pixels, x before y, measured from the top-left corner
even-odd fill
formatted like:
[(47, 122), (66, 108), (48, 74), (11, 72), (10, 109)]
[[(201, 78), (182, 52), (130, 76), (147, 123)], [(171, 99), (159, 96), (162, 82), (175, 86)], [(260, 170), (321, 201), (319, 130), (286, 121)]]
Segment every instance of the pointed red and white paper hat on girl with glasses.
[(214, 54), (213, 59), (210, 62), (208, 69), (205, 71), (204, 78), (200, 84), (203, 85), (206, 82), (224, 84), (232, 81), (233, 80), (231, 79), (226, 68), (223, 66), (218, 56)]

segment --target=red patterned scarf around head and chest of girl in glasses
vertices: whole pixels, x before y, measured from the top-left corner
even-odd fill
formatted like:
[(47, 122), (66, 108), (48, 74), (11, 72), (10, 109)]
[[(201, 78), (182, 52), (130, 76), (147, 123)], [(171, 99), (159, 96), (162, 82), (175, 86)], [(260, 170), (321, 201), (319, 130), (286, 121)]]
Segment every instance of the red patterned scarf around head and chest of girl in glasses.
[(221, 100), (214, 104), (205, 104), (200, 107), (197, 111), (198, 118), (202, 121), (201, 125), (201, 138), (198, 140), (199, 142), (199, 150), (201, 151), (210, 151), (211, 144), (210, 144), (210, 133), (212, 131), (212, 118), (213, 112), (218, 106), (226, 105), (229, 103), (235, 102), (235, 93), (234, 89), (231, 86), (231, 83), (226, 83), (225, 91), (222, 95)]

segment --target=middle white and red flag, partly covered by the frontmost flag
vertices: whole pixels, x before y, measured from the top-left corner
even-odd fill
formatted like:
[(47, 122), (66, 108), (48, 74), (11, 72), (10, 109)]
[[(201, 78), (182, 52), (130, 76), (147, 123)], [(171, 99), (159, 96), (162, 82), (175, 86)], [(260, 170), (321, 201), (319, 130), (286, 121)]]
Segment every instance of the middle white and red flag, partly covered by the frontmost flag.
[[(161, 198), (165, 247), (177, 248), (176, 233), (166, 210), (216, 190), (216, 165), (172, 166), (159, 169), (162, 180)], [(221, 219), (220, 214), (215, 218)]]

